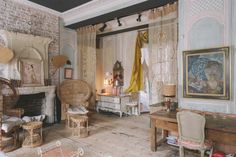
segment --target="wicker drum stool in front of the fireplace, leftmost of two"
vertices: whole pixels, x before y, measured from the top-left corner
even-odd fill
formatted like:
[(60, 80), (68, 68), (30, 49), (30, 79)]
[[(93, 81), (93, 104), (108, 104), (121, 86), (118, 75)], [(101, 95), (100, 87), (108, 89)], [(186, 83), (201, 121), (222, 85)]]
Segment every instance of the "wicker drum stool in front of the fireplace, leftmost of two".
[(24, 124), (22, 127), (24, 130), (28, 132), (26, 136), (24, 132), (24, 142), (22, 147), (37, 147), (40, 146), (43, 142), (43, 134), (42, 134), (42, 122), (29, 122)]

